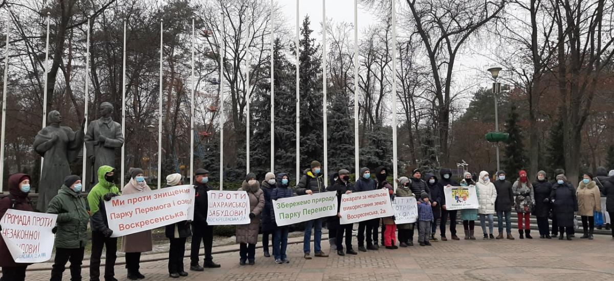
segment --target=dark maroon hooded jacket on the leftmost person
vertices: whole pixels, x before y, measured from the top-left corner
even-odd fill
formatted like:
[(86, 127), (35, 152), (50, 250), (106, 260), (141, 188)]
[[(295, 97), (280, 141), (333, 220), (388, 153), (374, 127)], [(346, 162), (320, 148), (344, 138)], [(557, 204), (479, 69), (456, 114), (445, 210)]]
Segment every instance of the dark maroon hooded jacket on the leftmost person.
[[(32, 205), (30, 204), (30, 199), (28, 198), (28, 193), (23, 193), (19, 189), (19, 183), (23, 180), (30, 179), (29, 175), (26, 174), (14, 174), (9, 177), (9, 194), (11, 196), (4, 196), (4, 198), (0, 199), (0, 218), (4, 217), (6, 210), (11, 209), (12, 197), (15, 200), (15, 205), (12, 209), (15, 210), (25, 210), (29, 212), (34, 212)], [(6, 243), (4, 243), (4, 239), (0, 236), (0, 266), (1, 267), (15, 267), (15, 266), (28, 266), (26, 263), (15, 263), (13, 260), (13, 256), (10, 255), (9, 248), (6, 247)]]

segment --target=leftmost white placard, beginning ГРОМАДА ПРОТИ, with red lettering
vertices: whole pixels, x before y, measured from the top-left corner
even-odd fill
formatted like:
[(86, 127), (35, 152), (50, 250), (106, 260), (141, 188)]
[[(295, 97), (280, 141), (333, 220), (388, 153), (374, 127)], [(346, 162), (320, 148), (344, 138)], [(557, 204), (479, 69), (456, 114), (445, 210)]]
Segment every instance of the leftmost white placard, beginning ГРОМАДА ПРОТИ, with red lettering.
[(58, 215), (8, 209), (0, 220), (2, 239), (17, 263), (42, 263), (51, 258), (52, 230)]

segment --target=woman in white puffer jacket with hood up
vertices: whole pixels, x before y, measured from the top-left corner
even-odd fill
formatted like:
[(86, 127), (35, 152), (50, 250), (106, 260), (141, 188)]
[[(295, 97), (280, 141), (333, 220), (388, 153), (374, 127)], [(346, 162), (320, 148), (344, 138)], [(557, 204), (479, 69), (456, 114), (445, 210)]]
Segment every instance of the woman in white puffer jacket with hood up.
[[(478, 183), (476, 183), (475, 188), (478, 193), (478, 201), (480, 202), (478, 214), (480, 215), (480, 224), (482, 226), (482, 232), (484, 233), (483, 239), (495, 239), (495, 236), (492, 235), (492, 219), (495, 214), (497, 189), (491, 182), (488, 172), (480, 172), (480, 178), (478, 179)], [(486, 234), (486, 218), (488, 218), (488, 234)]]

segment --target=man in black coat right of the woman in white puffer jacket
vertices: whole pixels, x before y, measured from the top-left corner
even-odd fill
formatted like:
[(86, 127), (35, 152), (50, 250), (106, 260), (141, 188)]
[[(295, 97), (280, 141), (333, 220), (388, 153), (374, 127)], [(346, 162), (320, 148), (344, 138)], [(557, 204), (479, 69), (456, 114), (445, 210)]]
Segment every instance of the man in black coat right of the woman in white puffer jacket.
[(514, 202), (514, 192), (511, 190), (511, 182), (505, 179), (505, 171), (497, 172), (497, 180), (495, 180), (494, 185), (497, 190), (495, 211), (497, 212), (497, 220), (499, 220), (499, 236), (497, 236), (497, 239), (503, 239), (503, 216), (505, 216), (507, 239), (514, 240), (514, 237), (511, 236), (511, 207)]

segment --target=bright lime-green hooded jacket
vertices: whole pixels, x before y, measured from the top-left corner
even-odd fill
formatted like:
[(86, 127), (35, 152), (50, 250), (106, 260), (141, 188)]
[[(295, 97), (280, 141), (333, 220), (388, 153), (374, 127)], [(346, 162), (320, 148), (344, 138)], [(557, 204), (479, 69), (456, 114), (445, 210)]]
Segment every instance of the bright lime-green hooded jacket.
[(108, 227), (107, 214), (104, 209), (104, 195), (107, 193), (121, 194), (114, 183), (107, 182), (104, 179), (104, 175), (112, 171), (115, 171), (115, 169), (111, 166), (100, 166), (98, 169), (98, 183), (87, 194), (87, 202), (90, 204), (92, 231), (103, 231)]

